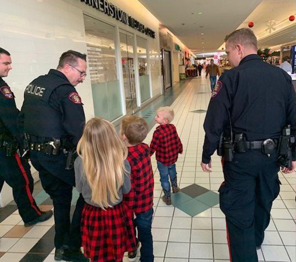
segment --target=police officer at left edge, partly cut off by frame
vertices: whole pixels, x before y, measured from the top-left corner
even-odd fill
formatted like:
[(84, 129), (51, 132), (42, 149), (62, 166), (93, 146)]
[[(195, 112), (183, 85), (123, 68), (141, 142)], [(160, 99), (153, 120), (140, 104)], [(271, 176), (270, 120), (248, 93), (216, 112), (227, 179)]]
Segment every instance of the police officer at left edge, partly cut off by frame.
[(11, 69), (10, 54), (0, 48), (0, 190), (4, 181), (12, 187), (19, 214), (25, 227), (29, 227), (48, 220), (52, 211), (42, 212), (38, 208), (32, 197), (34, 180), (30, 165), (17, 152), (19, 145), (23, 143), (17, 128), (19, 110), (13, 93), (2, 80)]

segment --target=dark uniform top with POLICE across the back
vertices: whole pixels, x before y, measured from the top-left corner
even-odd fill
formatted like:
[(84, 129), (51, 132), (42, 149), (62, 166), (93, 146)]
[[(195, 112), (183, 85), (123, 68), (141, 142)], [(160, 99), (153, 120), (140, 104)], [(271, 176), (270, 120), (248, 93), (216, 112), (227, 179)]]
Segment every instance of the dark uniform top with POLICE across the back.
[(81, 98), (67, 77), (50, 69), (25, 89), (20, 113), (23, 132), (44, 140), (69, 137), (76, 145), (85, 125)]

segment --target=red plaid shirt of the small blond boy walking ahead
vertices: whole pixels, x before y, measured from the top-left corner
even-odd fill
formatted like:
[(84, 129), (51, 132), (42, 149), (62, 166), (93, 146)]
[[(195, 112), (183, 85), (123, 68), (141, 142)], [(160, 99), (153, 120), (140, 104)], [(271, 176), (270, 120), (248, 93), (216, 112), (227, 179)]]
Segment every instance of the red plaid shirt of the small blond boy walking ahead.
[(156, 128), (150, 143), (150, 155), (155, 151), (156, 160), (162, 164), (171, 165), (177, 162), (178, 154), (183, 153), (183, 145), (174, 125), (166, 124)]

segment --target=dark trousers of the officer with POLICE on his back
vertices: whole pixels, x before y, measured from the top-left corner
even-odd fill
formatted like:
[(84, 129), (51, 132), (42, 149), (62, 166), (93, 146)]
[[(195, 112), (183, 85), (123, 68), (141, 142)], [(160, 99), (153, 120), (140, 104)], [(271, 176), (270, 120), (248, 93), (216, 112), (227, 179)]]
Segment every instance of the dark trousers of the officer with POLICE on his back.
[(72, 190), (74, 186), (74, 170), (66, 170), (66, 156), (45, 155), (43, 152), (30, 152), (31, 162), (39, 172), (41, 184), (45, 192), (53, 201), (55, 221), (55, 247), (68, 245), (70, 249), (78, 250), (81, 246), (81, 213), (84, 199), (80, 195), (72, 224), (70, 210)]

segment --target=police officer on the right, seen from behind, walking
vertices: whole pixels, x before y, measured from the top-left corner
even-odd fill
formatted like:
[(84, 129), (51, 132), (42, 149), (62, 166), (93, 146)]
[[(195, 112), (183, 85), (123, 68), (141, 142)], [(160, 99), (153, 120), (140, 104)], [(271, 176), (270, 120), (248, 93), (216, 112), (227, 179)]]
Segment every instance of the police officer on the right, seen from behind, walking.
[(295, 91), (284, 70), (257, 55), (257, 38), (250, 29), (234, 31), (225, 42), (235, 67), (212, 92), (201, 166), (210, 172), (211, 156), (222, 151), (220, 208), (226, 216), (230, 261), (257, 262), (256, 247), (263, 242), (272, 201), (280, 192), (280, 166), (284, 173), (295, 170)]

